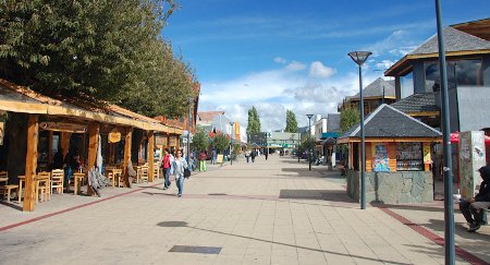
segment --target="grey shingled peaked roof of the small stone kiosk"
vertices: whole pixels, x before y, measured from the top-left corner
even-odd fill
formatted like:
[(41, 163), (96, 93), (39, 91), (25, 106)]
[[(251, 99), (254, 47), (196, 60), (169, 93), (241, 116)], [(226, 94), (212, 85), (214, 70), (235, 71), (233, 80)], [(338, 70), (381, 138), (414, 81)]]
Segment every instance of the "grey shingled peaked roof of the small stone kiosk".
[[(365, 137), (438, 137), (441, 133), (402, 111), (382, 104), (364, 121)], [(359, 124), (339, 138), (360, 137)]]

